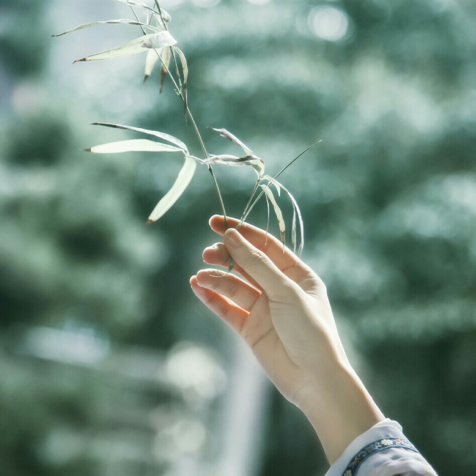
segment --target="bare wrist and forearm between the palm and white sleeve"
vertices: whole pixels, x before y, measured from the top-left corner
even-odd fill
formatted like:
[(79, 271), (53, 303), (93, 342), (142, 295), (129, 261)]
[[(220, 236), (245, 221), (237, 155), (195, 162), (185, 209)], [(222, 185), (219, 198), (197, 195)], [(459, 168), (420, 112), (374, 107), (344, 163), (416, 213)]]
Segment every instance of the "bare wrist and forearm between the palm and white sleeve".
[(357, 436), (385, 420), (351, 365), (335, 360), (309, 386), (299, 407), (314, 427), (330, 464)]

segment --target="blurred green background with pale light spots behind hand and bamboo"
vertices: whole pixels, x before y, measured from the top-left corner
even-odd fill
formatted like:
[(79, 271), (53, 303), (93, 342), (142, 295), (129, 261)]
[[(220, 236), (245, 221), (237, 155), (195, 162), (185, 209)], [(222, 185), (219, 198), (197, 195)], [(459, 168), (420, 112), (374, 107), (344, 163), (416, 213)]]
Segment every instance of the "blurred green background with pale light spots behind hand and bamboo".
[[(150, 2), (151, 3), (151, 2)], [(476, 473), (476, 4), (163, 0), (209, 151), (225, 127), (303, 212), (352, 365), (441, 476)], [(310, 424), (188, 279), (220, 241), (210, 174), (82, 149), (146, 127), (200, 148), (112, 0), (0, 3), (0, 464), (8, 476), (323, 475)], [(239, 217), (250, 168), (216, 166)], [(292, 208), (283, 198), (291, 225)], [(265, 228), (266, 204), (248, 221)], [(278, 235), (271, 220), (270, 230)]]

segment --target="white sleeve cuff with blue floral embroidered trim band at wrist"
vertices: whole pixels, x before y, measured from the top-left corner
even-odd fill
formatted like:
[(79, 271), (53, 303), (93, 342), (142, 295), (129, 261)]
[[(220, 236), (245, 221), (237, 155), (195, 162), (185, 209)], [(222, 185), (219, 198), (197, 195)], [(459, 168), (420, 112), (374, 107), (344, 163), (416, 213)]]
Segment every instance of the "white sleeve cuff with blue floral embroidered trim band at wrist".
[(400, 424), (386, 418), (357, 436), (325, 476), (438, 476), (402, 433)]

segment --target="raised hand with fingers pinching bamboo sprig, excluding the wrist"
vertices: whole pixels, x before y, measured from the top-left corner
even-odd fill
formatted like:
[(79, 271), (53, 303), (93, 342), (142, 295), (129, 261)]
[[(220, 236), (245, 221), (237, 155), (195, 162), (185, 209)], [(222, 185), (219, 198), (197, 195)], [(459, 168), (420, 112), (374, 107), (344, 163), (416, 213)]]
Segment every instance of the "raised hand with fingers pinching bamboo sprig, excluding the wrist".
[(347, 361), (324, 283), (289, 248), (283, 252), (276, 238), (266, 239), (264, 230), (243, 223), (225, 233), (218, 215), (210, 226), (224, 235), (224, 244), (206, 248), (204, 261), (227, 268), (231, 254), (235, 271), (252, 285), (231, 273), (202, 269), (190, 280), (193, 291), (251, 347), (281, 394), (301, 407), (311, 382)]

